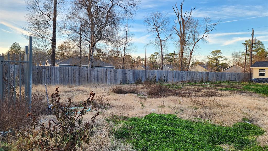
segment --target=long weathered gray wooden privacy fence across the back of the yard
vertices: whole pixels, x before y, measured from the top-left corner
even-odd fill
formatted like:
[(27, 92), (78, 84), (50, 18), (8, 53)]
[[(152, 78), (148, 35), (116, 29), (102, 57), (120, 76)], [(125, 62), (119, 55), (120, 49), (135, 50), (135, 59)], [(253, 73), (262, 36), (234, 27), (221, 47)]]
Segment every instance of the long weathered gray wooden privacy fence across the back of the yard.
[(248, 81), (250, 73), (103, 69), (34, 66), (33, 84), (85, 85), (91, 83), (128, 84), (137, 80), (158, 82)]

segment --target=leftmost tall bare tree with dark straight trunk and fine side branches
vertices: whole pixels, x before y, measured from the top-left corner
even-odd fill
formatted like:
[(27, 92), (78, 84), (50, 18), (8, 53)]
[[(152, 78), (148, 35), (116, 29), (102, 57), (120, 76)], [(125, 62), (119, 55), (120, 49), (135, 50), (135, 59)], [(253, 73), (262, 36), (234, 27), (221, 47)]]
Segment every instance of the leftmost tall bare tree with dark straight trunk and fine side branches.
[(51, 54), (51, 65), (55, 66), (57, 6), (60, 0), (25, 0), (25, 3), (28, 11), (27, 28), (23, 28), (35, 37), (34, 41), (39, 48)]

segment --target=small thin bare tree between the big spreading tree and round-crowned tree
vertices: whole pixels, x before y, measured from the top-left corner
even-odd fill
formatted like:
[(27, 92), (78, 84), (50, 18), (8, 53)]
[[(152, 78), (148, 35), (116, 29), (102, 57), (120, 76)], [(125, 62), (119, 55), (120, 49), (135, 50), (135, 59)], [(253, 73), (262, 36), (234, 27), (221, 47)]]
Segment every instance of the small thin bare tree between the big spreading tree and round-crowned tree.
[(131, 42), (134, 34), (131, 33), (130, 30), (131, 26), (128, 24), (128, 20), (126, 21), (126, 24), (124, 28), (122, 29), (123, 34), (118, 34), (118, 41), (115, 43), (117, 49), (121, 52), (121, 60), (122, 65), (121, 68), (125, 69), (124, 62), (125, 62), (125, 56), (129, 55), (129, 53), (133, 52), (135, 49), (132, 47), (133, 43)]

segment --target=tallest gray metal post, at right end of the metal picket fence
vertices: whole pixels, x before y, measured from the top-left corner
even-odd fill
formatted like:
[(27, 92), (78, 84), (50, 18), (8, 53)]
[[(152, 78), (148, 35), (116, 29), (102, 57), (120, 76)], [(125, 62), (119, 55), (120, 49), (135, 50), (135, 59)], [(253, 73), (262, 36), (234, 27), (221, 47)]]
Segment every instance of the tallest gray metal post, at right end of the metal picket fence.
[(32, 41), (33, 37), (29, 37), (29, 110), (32, 109)]

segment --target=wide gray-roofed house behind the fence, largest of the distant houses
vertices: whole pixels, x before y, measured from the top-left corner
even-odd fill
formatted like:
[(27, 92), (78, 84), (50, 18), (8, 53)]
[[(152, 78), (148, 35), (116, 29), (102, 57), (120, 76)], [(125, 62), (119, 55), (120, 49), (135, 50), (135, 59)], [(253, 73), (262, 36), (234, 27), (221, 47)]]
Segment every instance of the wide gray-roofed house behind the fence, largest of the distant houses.
[[(72, 56), (62, 60), (55, 60), (56, 67), (79, 67), (79, 56)], [(50, 66), (51, 60), (47, 59), (45, 66)], [(82, 67), (88, 67), (88, 57), (81, 56), (81, 65)], [(97, 58), (93, 58), (94, 68), (106, 68), (106, 69), (115, 69), (115, 66), (112, 66), (109, 63), (103, 62)]]

